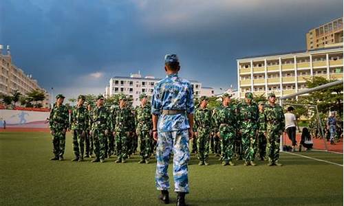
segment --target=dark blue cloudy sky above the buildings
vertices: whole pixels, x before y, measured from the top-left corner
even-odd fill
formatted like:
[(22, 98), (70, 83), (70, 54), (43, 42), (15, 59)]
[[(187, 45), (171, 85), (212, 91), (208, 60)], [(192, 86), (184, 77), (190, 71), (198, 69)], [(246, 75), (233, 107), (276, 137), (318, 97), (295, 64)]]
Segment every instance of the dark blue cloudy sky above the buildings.
[(111, 76), (180, 76), (237, 86), (236, 58), (305, 49), (305, 33), (343, 16), (343, 1), (1, 0), (0, 44), (41, 87), (75, 97), (103, 93)]

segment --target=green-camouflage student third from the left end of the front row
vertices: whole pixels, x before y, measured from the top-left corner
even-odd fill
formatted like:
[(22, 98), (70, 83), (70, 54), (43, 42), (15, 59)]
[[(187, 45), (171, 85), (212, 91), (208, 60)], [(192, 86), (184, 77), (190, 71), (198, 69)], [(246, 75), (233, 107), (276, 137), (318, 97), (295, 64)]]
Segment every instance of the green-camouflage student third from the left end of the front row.
[(107, 135), (111, 126), (110, 114), (104, 106), (103, 95), (98, 95), (96, 108), (92, 113), (92, 136), (94, 139), (94, 153), (96, 159), (92, 162), (104, 162), (106, 157)]

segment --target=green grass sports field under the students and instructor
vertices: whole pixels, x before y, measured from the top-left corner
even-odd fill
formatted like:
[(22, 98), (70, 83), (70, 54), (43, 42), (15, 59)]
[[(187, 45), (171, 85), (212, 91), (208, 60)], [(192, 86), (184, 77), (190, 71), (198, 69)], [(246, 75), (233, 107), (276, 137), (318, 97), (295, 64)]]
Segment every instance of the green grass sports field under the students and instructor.
[[(298, 153), (299, 154), (299, 153)], [(302, 152), (343, 164), (343, 155)], [(116, 164), (72, 162), (72, 138), (67, 135), (65, 161), (52, 157), (47, 133), (0, 133), (0, 205), (162, 205), (155, 190), (155, 162)], [(343, 205), (343, 166), (286, 153), (283, 167), (257, 162), (246, 167), (222, 166), (211, 155), (209, 166), (189, 166), (189, 205)], [(173, 176), (170, 182), (173, 189)], [(173, 190), (170, 190), (170, 192)], [(175, 193), (171, 192), (172, 205)]]

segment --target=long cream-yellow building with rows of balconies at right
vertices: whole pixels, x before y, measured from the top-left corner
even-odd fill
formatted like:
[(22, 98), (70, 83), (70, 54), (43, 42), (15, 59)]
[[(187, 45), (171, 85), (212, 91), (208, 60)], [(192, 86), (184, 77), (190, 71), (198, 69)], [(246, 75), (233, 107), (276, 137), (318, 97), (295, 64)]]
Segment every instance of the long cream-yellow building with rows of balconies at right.
[(343, 47), (237, 59), (239, 97), (246, 92), (278, 97), (306, 89), (313, 76), (343, 79)]

